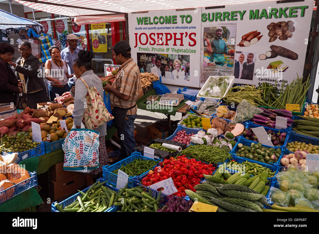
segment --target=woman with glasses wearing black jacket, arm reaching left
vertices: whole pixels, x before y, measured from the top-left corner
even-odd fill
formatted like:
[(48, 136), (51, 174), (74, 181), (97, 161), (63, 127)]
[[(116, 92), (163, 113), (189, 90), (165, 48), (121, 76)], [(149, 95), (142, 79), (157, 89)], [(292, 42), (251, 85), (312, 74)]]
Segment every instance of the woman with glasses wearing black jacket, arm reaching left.
[(37, 103), (48, 101), (46, 85), (39, 71), (39, 59), (32, 54), (31, 45), (27, 41), (19, 43), (18, 51), (21, 57), (9, 62), (14, 67), (15, 74), (23, 83), (22, 90), (26, 93), (27, 106), (37, 109)]

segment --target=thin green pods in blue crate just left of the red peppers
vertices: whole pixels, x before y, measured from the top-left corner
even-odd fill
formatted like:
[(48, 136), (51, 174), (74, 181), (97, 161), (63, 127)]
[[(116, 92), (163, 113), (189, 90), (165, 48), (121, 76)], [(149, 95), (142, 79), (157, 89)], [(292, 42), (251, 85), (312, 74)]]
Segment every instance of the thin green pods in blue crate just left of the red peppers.
[(126, 163), (125, 166), (122, 165), (121, 168), (112, 171), (112, 173), (118, 174), (118, 171), (121, 170), (129, 176), (141, 175), (147, 170), (152, 169), (157, 163), (158, 161), (154, 160), (136, 159), (130, 163)]

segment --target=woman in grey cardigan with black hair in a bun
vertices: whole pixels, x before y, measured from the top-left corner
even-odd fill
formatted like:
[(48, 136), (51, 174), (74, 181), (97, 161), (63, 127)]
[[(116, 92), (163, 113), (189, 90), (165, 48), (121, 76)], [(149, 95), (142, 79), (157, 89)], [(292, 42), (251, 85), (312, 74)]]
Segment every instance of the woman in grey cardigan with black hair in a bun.
[[(102, 86), (102, 81), (100, 78), (93, 73), (91, 60), (93, 58), (92, 51), (81, 50), (78, 53), (78, 58), (73, 62), (73, 71), (77, 78), (85, 80), (89, 88), (95, 87), (101, 98), (103, 99), (104, 90)], [(85, 104), (87, 95), (87, 89), (81, 80), (76, 80), (75, 87), (71, 89), (71, 95), (74, 97), (74, 110), (73, 118), (76, 128), (81, 128), (81, 122), (83, 119), (83, 114), (85, 111)], [(94, 169), (90, 173), (85, 173), (85, 185), (88, 187), (93, 184), (93, 176), (100, 177), (102, 174), (102, 167), (108, 165), (108, 152), (105, 145), (105, 135), (106, 135), (106, 124), (100, 127), (94, 128), (94, 131), (100, 133), (99, 135), (99, 167)]]

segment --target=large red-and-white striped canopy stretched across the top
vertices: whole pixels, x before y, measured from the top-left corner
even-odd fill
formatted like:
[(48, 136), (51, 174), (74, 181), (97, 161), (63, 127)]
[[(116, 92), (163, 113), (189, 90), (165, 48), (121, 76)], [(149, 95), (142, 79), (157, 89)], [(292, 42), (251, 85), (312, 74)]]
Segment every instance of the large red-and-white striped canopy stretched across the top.
[[(199, 7), (213, 7), (222, 5), (236, 5), (269, 0), (14, 0), (19, 4), (39, 11), (66, 16), (96, 16), (101, 14), (123, 14), (137, 11), (159, 11), (171, 9), (186, 9)], [(95, 22), (96, 23), (96, 22)]]

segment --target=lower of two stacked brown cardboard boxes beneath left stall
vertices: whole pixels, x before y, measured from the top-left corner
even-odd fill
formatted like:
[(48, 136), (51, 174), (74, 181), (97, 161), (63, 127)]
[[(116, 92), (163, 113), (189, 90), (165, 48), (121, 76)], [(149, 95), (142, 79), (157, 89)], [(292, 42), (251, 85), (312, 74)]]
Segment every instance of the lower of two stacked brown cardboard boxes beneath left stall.
[(84, 185), (85, 176), (80, 173), (59, 182), (51, 180), (51, 197), (53, 197), (54, 200), (60, 199), (71, 193), (77, 192), (78, 189), (82, 188)]

